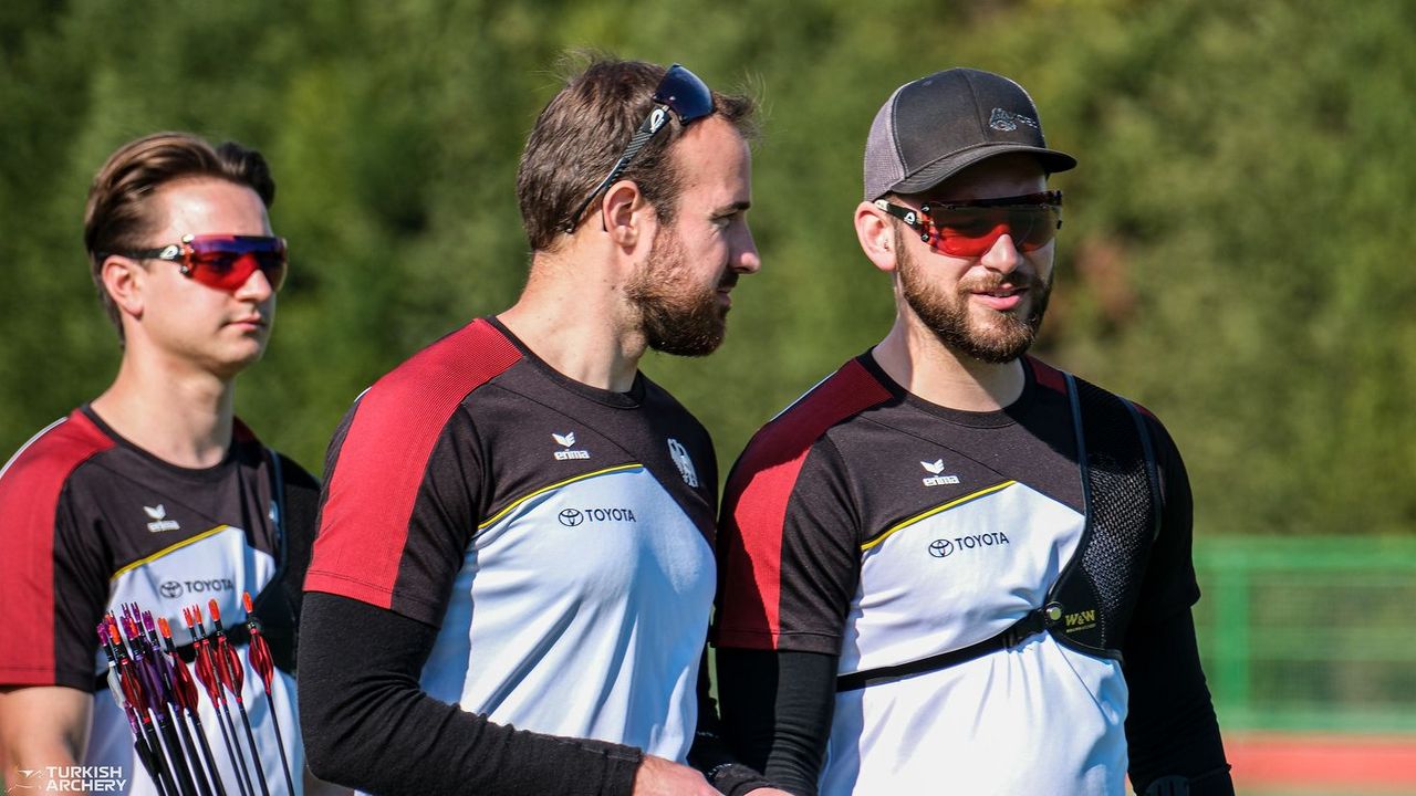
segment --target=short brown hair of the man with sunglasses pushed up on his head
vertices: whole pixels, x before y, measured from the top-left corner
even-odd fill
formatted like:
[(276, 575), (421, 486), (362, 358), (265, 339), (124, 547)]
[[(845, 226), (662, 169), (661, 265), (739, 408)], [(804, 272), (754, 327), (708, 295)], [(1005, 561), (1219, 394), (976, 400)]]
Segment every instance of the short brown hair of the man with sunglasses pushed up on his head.
[[(656, 64), (603, 55), (572, 54), (569, 61), (586, 57), (590, 58), (588, 67), (562, 78), (565, 86), (541, 110), (521, 153), (517, 201), (532, 251), (556, 245), (571, 212), (605, 178), (634, 129), (649, 116), (654, 88), (668, 71)], [(715, 116), (731, 122), (745, 139), (755, 137), (750, 98), (716, 91), (712, 98)], [(639, 186), (666, 224), (673, 222), (683, 190), (678, 170), (668, 157), (683, 132), (674, 118), (620, 176)]]

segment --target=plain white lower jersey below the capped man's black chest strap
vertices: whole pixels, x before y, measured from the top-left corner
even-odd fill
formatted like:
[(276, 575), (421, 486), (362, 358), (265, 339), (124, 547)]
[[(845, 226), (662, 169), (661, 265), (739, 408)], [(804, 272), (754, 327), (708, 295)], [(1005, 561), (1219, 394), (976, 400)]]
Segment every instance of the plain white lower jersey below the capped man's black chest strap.
[(1046, 633), (949, 669), (845, 691), (821, 796), (1123, 796), (1120, 664)]

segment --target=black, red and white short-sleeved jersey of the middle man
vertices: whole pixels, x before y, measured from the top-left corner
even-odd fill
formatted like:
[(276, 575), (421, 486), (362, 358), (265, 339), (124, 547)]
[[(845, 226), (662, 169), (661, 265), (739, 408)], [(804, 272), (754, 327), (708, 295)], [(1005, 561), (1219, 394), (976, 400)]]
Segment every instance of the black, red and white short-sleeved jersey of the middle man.
[(684, 759), (716, 472), (664, 390), (579, 384), (481, 319), (361, 395), (326, 472), (306, 589), (439, 627), (429, 695)]

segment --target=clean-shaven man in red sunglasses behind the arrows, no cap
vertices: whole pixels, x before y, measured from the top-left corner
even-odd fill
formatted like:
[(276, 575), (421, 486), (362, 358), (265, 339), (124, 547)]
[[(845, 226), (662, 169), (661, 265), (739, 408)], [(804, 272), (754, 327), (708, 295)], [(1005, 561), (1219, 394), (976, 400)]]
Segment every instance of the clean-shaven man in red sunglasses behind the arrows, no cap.
[[(84, 242), (122, 361), (102, 395), (41, 431), (0, 472), (7, 782), (42, 786), (50, 766), (112, 766), (58, 776), (72, 785), (116, 771), (126, 793), (157, 793), (106, 693), (96, 627), (137, 603), (167, 619), (181, 646), (190, 642), (184, 608), (205, 612), (215, 601), (235, 629), (242, 592), (255, 596), (278, 666), (270, 700), (251, 701), (263, 766), (252, 775), (283, 788), (272, 710), (295, 773), (303, 769), (293, 642), (319, 483), (232, 409), (236, 375), (270, 339), (286, 273), (285, 241), (266, 215), (273, 198), (261, 153), (187, 133), (130, 142), (93, 180)], [(242, 633), (232, 639), (244, 646)], [(249, 664), (245, 681), (261, 683)], [(210, 701), (201, 711), (202, 727), (217, 727)], [(215, 735), (208, 741), (221, 748)], [(157, 759), (167, 765), (160, 751)], [(185, 776), (169, 769), (174, 782), (214, 775), (236, 792), (232, 758), (218, 754), (215, 772), (190, 763)]]

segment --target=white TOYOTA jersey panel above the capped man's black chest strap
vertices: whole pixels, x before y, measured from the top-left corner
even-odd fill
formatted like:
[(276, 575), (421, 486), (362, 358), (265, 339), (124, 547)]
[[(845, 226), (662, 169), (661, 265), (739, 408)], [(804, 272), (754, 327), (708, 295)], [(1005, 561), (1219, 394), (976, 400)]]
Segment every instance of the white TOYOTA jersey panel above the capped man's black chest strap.
[(1082, 538), (1073, 508), (1015, 482), (905, 520), (861, 557), (841, 674), (990, 639), (1042, 605)]

